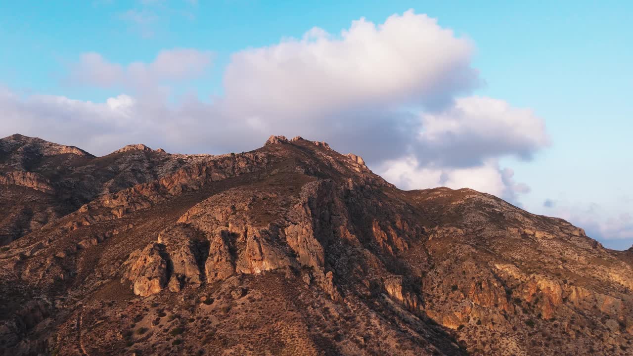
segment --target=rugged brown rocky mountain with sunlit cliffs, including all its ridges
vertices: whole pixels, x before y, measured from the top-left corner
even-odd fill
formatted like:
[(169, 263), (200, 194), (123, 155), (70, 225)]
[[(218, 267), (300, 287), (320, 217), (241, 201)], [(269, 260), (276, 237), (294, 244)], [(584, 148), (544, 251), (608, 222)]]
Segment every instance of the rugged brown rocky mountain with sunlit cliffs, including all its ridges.
[(0, 140), (4, 355), (631, 355), (633, 251), (360, 156)]

